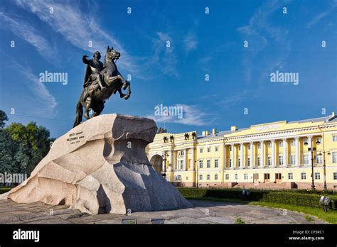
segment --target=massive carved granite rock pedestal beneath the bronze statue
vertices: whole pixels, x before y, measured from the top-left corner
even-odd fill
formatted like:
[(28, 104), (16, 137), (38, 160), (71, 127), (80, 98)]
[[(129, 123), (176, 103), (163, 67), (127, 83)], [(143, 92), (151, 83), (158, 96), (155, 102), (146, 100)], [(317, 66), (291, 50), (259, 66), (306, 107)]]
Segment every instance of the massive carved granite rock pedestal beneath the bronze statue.
[(31, 177), (0, 198), (89, 214), (192, 207), (146, 157), (156, 130), (151, 119), (96, 116), (58, 138)]

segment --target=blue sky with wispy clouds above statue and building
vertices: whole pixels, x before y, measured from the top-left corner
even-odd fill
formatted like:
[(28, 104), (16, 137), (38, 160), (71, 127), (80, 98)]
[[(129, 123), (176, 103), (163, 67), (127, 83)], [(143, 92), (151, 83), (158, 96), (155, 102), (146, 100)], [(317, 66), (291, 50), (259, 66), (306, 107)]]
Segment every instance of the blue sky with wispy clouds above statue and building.
[[(170, 132), (200, 132), (337, 109), (336, 0), (0, 4), (0, 109), (10, 123), (36, 121), (56, 138), (73, 126), (82, 55), (103, 56), (107, 45), (122, 53), (117, 66), (132, 75), (132, 96), (111, 97), (103, 114), (149, 116)], [(39, 82), (46, 70), (67, 72), (68, 84)], [(270, 82), (277, 70), (299, 73), (299, 84)], [(154, 116), (159, 104), (183, 106), (183, 118)]]

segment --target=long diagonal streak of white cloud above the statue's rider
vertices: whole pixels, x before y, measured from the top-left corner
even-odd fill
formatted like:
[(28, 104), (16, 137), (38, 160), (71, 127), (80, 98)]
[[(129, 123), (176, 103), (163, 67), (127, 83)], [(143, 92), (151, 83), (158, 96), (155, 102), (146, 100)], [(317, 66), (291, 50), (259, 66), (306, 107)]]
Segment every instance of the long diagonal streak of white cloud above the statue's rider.
[[(36, 14), (41, 21), (48, 23), (54, 31), (63, 35), (65, 40), (77, 48), (90, 53), (95, 50), (100, 50), (103, 53), (107, 45), (112, 45), (115, 50), (122, 53), (119, 64), (124, 70), (138, 72), (138, 68), (134, 65), (134, 57), (131, 57), (122, 48), (122, 44), (116, 38), (102, 29), (100, 24), (95, 21), (95, 16), (91, 16), (95, 11), (83, 13), (77, 1), (16, 0), (16, 4)], [(53, 13), (49, 13), (50, 7), (53, 7)], [(92, 48), (88, 46), (89, 41), (92, 41)]]

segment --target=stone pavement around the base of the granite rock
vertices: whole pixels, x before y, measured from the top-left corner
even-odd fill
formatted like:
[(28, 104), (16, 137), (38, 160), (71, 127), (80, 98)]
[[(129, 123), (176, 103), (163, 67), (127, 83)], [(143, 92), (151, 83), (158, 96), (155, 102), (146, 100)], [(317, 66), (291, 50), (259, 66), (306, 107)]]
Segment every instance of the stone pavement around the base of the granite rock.
[(149, 224), (150, 219), (164, 219), (165, 224), (235, 224), (238, 216), (246, 224), (326, 224), (316, 219), (306, 221), (304, 214), (230, 202), (190, 201), (194, 208), (161, 212), (134, 212), (132, 215), (90, 215), (66, 206), (43, 203), (17, 204), (0, 200), (0, 224), (121, 224), (122, 219), (137, 219)]

